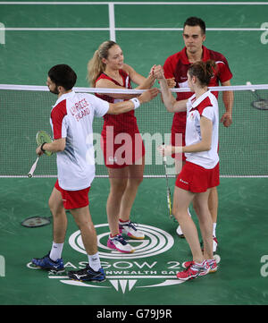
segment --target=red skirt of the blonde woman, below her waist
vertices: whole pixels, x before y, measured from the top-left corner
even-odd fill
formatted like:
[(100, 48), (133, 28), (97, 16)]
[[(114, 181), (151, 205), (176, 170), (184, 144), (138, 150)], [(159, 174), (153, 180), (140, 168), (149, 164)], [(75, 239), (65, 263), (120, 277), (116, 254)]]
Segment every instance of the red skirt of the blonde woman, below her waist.
[(123, 168), (133, 164), (142, 165), (145, 147), (139, 132), (102, 132), (101, 147), (104, 152), (105, 166)]

